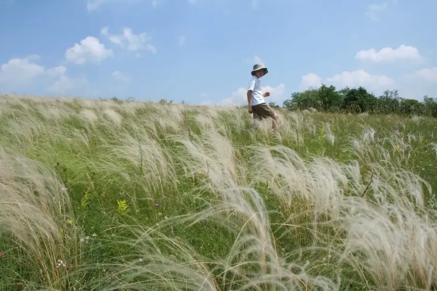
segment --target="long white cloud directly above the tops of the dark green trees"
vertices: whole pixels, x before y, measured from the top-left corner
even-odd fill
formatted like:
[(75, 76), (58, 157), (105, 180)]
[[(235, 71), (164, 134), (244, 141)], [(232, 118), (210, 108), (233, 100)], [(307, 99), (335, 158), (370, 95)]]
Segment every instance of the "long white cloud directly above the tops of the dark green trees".
[(364, 70), (344, 71), (331, 78), (326, 78), (326, 82), (337, 87), (363, 86), (369, 89), (387, 89), (393, 88), (395, 85), (395, 81), (385, 75), (370, 75)]

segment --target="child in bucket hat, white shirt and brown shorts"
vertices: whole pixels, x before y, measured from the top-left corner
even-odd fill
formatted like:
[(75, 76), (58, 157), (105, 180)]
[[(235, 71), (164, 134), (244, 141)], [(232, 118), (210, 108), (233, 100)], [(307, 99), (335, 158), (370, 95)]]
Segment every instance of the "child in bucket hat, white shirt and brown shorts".
[(265, 97), (270, 96), (270, 92), (263, 94), (261, 89), (261, 77), (266, 75), (269, 71), (264, 64), (256, 64), (252, 70), (252, 80), (249, 83), (249, 90), (247, 91), (247, 102), (249, 103), (249, 114), (253, 113), (253, 121), (256, 123), (264, 118), (271, 117), (272, 127), (276, 129), (278, 126), (278, 114), (271, 109), (269, 104), (264, 100)]

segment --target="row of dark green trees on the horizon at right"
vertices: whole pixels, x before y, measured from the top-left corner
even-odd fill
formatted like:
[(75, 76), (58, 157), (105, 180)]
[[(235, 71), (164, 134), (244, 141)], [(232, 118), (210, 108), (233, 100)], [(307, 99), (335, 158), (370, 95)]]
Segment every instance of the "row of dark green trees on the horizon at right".
[[(270, 102), (270, 106), (279, 107)], [(399, 97), (398, 90), (386, 90), (381, 96), (375, 96), (364, 87), (343, 88), (322, 84), (319, 88), (308, 89), (291, 94), (291, 98), (283, 103), (289, 110), (314, 108), (322, 112), (344, 113), (401, 113), (408, 115), (426, 115), (437, 117), (437, 98), (423, 97), (416, 99)]]

